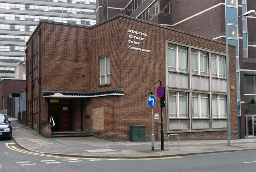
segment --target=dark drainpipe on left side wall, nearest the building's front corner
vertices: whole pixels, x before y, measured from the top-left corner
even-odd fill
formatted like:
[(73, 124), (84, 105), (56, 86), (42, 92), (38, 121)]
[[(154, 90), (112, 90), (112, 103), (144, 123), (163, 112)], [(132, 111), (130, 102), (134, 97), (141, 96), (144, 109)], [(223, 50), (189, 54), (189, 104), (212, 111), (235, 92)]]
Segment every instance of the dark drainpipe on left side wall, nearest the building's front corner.
[(41, 28), (38, 33), (38, 134), (41, 126)]

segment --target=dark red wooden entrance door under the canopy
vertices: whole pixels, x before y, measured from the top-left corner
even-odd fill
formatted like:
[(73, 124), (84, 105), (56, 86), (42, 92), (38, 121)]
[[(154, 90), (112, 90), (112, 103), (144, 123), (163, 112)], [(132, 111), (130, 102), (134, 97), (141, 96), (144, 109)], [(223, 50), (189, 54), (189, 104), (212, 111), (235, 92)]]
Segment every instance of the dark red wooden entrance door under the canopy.
[(60, 131), (72, 131), (71, 99), (60, 99)]

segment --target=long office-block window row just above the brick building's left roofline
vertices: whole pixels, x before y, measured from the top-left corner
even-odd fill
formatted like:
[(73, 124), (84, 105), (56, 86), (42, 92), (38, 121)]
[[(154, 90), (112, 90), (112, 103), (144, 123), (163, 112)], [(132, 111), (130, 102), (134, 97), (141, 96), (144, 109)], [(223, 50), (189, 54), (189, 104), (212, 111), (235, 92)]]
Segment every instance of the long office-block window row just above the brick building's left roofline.
[(85, 18), (66, 18), (66, 17), (53, 17), (53, 16), (34, 16), (34, 15), (22, 15), (22, 14), (0, 14), (1, 20), (18, 20), (18, 21), (32, 21), (40, 22), (40, 20), (50, 20), (54, 22), (62, 22), (69, 24), (86, 24), (94, 25), (96, 24), (95, 19), (85, 19)]

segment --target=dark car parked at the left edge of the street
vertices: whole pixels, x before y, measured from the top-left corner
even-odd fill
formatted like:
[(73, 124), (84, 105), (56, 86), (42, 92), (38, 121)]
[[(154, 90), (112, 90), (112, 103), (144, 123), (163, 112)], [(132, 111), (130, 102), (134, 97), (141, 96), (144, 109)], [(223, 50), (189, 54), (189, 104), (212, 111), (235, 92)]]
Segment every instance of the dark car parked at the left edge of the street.
[(6, 115), (0, 113), (0, 138), (12, 139), (12, 126), (11, 121), (8, 120)]

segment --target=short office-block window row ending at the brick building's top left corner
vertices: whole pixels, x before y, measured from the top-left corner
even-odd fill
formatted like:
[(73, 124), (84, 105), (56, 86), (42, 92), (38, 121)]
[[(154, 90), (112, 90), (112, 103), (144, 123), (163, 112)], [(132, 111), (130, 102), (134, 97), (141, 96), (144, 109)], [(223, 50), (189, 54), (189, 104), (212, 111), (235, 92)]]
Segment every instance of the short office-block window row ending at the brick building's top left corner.
[(34, 32), (36, 26), (18, 24), (0, 24), (0, 30)]

